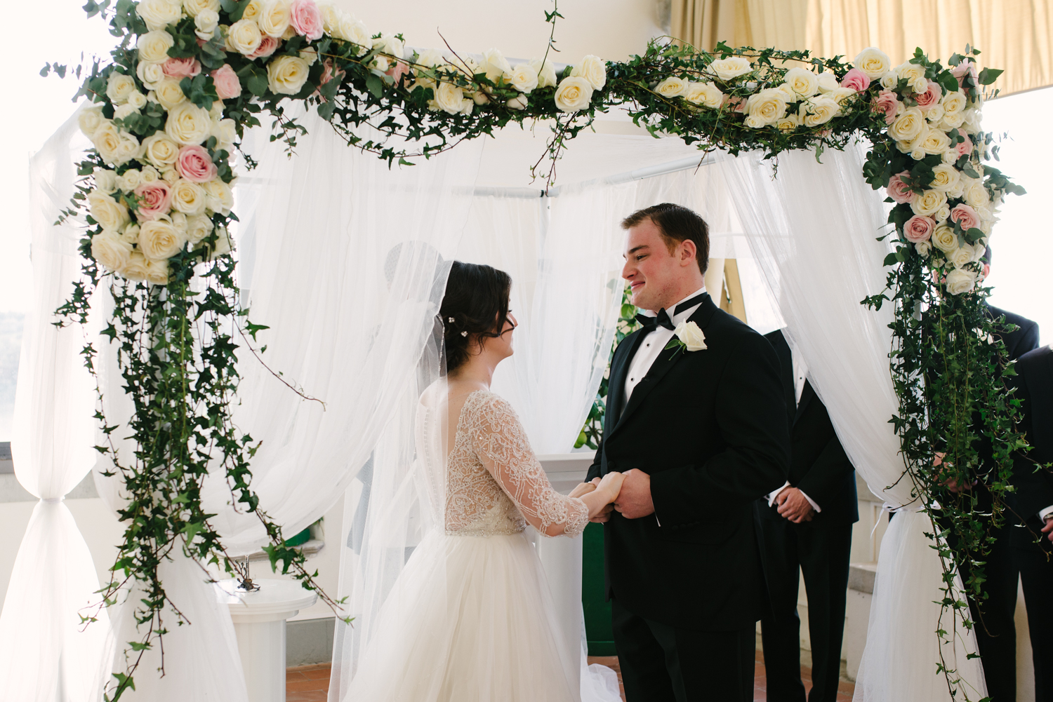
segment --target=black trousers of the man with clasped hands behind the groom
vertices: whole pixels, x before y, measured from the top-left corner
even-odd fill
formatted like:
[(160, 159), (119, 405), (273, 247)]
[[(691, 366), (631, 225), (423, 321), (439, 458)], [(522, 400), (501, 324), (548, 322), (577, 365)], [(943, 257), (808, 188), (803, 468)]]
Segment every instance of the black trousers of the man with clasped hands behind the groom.
[(761, 520), (772, 611), (760, 620), (771, 702), (804, 702), (800, 680), (798, 571), (808, 593), (812, 643), (809, 702), (834, 702), (841, 667), (852, 524), (791, 524)]

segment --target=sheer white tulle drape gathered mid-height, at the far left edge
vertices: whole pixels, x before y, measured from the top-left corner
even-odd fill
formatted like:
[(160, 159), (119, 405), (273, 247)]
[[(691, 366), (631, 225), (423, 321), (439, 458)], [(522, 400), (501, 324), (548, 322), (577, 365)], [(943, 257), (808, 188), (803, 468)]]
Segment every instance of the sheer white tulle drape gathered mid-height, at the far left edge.
[(63, 496), (95, 463), (93, 385), (80, 350), (84, 332), (54, 326), (55, 309), (80, 274), (80, 233), (55, 225), (74, 193), (71, 118), (29, 161), (33, 287), (26, 308), (12, 455), (19, 482), (40, 498), (22, 538), (0, 615), (0, 698), (26, 702), (96, 699), (108, 622), (84, 626), (98, 577)]

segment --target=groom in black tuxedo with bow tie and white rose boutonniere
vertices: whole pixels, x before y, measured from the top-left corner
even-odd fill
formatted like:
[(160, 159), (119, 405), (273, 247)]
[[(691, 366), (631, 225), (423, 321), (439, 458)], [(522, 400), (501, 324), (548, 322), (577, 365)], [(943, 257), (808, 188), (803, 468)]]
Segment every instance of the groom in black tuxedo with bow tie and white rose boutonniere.
[[(767, 606), (752, 504), (790, 473), (779, 361), (706, 292), (701, 217), (663, 203), (621, 225), (621, 275), (647, 316), (614, 353), (589, 479), (625, 475), (613, 510), (596, 518), (625, 697), (752, 700)], [(692, 343), (674, 345), (684, 322)]]

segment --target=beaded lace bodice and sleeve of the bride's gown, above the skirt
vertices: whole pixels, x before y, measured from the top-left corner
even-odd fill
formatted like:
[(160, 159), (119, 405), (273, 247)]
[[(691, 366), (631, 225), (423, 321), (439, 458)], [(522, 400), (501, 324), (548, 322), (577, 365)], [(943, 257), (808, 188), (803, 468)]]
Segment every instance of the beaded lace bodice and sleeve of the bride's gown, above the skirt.
[(552, 487), (512, 405), (485, 390), (468, 397), (457, 421), (444, 512), (446, 534), (458, 536), (517, 534), (524, 517), (542, 534), (563, 524), (577, 536), (589, 523), (584, 502)]

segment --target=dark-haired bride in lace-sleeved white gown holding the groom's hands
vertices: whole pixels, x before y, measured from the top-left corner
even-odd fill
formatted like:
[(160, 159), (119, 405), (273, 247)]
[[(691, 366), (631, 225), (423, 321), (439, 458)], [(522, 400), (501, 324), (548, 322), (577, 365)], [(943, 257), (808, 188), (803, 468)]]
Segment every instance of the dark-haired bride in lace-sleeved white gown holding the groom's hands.
[(560, 495), (512, 406), (490, 392), (512, 355), (511, 286), (501, 270), (453, 263), (439, 312), (446, 383), (424, 392), (416, 423), (417, 460), (444, 529), (425, 536), (384, 601), (349, 702), (580, 699), (581, 653), (556, 634), (525, 528), (578, 536), (614, 502), (622, 477)]

